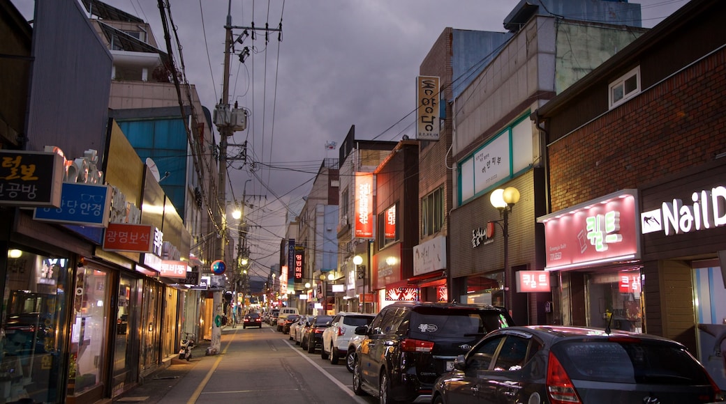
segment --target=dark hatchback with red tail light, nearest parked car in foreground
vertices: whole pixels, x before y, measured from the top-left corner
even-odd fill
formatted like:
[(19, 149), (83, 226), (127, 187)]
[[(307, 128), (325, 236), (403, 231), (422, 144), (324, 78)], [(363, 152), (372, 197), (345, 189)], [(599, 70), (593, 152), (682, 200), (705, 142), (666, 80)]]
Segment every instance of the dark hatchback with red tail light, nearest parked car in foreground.
[(492, 332), (434, 384), (435, 404), (713, 403), (722, 392), (678, 342), (584, 327)]

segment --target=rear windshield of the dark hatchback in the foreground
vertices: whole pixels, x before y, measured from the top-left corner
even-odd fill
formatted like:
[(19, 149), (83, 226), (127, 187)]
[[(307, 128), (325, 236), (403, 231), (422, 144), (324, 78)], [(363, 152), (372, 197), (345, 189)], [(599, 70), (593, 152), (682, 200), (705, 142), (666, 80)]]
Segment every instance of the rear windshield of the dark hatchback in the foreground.
[(679, 345), (643, 340), (563, 342), (552, 348), (572, 379), (594, 382), (709, 384)]

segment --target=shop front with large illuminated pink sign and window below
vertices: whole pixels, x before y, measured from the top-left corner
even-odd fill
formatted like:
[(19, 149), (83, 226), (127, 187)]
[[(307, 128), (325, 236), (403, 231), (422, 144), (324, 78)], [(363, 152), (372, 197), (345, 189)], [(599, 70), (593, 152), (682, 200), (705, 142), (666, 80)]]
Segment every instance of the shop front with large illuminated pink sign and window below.
[(643, 332), (637, 190), (621, 190), (537, 219), (557, 282), (555, 324)]

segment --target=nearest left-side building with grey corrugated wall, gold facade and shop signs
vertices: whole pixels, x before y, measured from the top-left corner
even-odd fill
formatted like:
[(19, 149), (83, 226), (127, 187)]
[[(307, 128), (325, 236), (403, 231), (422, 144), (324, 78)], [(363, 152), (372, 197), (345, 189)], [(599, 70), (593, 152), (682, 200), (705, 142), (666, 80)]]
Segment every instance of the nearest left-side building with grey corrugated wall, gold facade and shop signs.
[[(9, 170), (0, 185), (8, 303), (0, 369), (15, 375), (0, 401), (110, 399), (166, 366), (184, 316), (198, 319), (182, 308), (181, 286), (197, 282), (186, 270), (197, 198), (187, 182), (167, 193), (109, 118), (115, 55), (80, 3), (39, 1), (32, 27), (12, 4), (1, 7), (12, 17), (0, 22), (11, 38), (3, 52), (21, 57), (0, 61), (2, 80), (20, 83), (0, 101), (9, 124), (0, 150)], [(191, 115), (180, 111), (179, 126)]]

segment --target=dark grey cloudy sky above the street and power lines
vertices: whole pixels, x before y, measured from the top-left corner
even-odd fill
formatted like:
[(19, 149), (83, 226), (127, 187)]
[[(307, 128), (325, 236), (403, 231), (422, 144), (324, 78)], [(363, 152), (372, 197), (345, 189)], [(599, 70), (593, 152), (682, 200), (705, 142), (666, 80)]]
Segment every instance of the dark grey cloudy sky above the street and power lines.
[[(11, 0), (32, 18), (33, 0)], [(54, 0), (57, 1), (57, 0)], [(68, 0), (65, 0), (68, 1)], [(164, 0), (171, 4), (187, 80), (196, 85), (210, 110), (221, 97), (224, 25), (228, 0)], [(582, 0), (591, 1), (591, 0)], [(158, 0), (107, 0), (107, 4), (150, 22), (166, 51)], [(258, 33), (244, 64), (237, 55), (230, 63), (230, 102), (250, 109), (248, 130), (229, 143), (248, 140), (250, 160), (229, 172), (228, 200), (242, 198), (245, 180), (254, 208), (250, 219), (264, 227), (258, 237), (258, 258), (266, 261), (284, 237), (285, 206), (295, 211), (310, 190), (325, 158), (337, 158), (338, 146), (351, 125), (356, 138), (400, 140), (412, 134), (415, 77), (419, 65), (446, 27), (504, 31), (502, 21), (519, 0), (232, 0), (232, 26), (256, 28), (280, 25), (277, 32)], [(643, 26), (652, 28), (688, 0), (631, 1), (642, 4)], [(232, 30), (235, 38), (241, 28)], [(219, 138), (219, 137), (218, 137)], [(327, 150), (326, 143), (338, 143)], [(233, 153), (231, 150), (230, 153)], [(233, 164), (239, 167), (241, 164)], [(250, 174), (250, 168), (254, 173)], [(278, 203), (280, 198), (284, 203)], [(269, 222), (270, 218), (277, 218)], [(272, 247), (270, 246), (272, 245)]]

